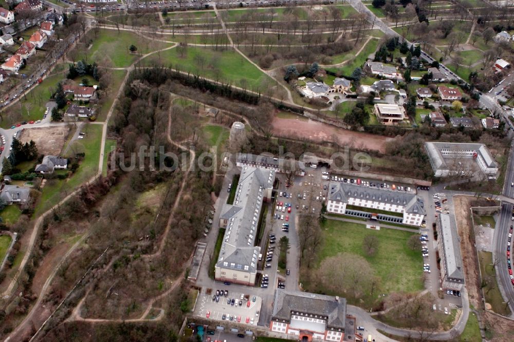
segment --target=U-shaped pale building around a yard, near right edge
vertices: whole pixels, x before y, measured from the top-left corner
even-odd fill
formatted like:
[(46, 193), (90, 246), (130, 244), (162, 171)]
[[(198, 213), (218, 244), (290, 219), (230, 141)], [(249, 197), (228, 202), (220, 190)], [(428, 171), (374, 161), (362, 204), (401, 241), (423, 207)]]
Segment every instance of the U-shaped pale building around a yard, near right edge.
[(427, 141), (425, 149), (435, 177), (447, 177), (461, 172), (457, 165), (466, 160), (474, 160), (489, 179), (496, 179), (498, 176), (498, 164), (484, 144)]

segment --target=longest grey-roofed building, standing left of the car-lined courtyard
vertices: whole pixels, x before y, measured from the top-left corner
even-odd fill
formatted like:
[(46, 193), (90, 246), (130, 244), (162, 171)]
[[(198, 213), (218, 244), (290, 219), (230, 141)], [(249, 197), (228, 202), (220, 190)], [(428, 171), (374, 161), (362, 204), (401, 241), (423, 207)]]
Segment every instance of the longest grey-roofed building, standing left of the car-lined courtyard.
[[(224, 204), (219, 226), (226, 229), (215, 279), (252, 286), (261, 248), (255, 246), (263, 202), (271, 200), (275, 172), (243, 165), (233, 204)], [(234, 185), (235, 186), (235, 185)]]

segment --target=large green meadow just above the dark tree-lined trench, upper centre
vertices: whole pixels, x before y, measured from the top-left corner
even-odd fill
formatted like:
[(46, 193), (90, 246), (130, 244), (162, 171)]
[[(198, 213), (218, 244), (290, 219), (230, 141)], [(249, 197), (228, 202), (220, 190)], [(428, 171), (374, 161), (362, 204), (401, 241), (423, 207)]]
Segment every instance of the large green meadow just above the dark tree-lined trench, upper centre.
[[(144, 59), (145, 65), (155, 65), (155, 58)], [(257, 67), (248, 62), (242, 55), (230, 49), (214, 51), (209, 48), (188, 47), (183, 57), (179, 51), (169, 49), (160, 53), (160, 62), (172, 68), (187, 71), (217, 80), (229, 82), (247, 89), (258, 90), (264, 87), (263, 82), (274, 81)]]

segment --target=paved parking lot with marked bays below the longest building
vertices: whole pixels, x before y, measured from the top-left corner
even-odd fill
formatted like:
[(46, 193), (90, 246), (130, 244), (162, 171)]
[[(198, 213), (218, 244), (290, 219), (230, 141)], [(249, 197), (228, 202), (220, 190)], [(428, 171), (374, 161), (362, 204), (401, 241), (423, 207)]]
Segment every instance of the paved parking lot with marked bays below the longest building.
[(227, 290), (227, 296), (224, 294), (216, 296), (215, 289), (209, 290), (211, 289), (202, 289), (198, 295), (195, 315), (219, 321), (232, 321), (250, 326), (257, 325), (262, 298), (251, 294), (251, 288), (246, 291), (250, 294)]

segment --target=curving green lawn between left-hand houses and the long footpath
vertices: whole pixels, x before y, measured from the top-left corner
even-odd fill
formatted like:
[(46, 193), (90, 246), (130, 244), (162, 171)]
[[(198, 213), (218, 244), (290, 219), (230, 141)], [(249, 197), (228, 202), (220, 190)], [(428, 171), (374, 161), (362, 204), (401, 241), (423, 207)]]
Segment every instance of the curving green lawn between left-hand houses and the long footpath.
[(68, 154), (71, 154), (74, 149), (77, 152), (83, 151), (85, 153), (84, 160), (81, 162), (77, 172), (70, 178), (54, 180), (53, 184), (47, 183), (45, 185), (41, 198), (35, 206), (34, 217), (41, 215), (57, 204), (66, 195), (76, 190), (82, 183), (88, 181), (98, 172), (102, 125), (86, 124), (82, 131), (86, 133), (84, 139), (74, 141), (68, 150)]

